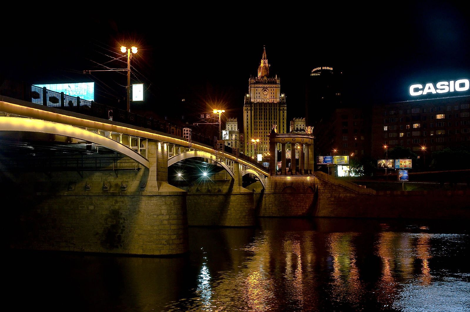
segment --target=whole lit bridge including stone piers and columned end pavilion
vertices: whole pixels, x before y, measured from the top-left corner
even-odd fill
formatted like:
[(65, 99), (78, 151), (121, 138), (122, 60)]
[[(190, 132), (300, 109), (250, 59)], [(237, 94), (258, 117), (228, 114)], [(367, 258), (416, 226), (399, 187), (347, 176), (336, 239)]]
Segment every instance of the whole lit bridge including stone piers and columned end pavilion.
[[(9, 230), (34, 233), (27, 243), (13, 242), (14, 248), (179, 254), (187, 251), (188, 225), (253, 226), (260, 214), (311, 213), (318, 190), (312, 135), (271, 133), (266, 168), (178, 131), (155, 130), (153, 121), (139, 116), (114, 111), (110, 120), (96, 103), (38, 91), (33, 101), (0, 95), (2, 137), (28, 142), (4, 144), (0, 153), (0, 188), (19, 207), (8, 211), (18, 223), (10, 222)], [(41, 151), (40, 157), (21, 157)], [(221, 169), (205, 184), (170, 184), (168, 168), (189, 159)], [(244, 175), (258, 182), (245, 188)]]

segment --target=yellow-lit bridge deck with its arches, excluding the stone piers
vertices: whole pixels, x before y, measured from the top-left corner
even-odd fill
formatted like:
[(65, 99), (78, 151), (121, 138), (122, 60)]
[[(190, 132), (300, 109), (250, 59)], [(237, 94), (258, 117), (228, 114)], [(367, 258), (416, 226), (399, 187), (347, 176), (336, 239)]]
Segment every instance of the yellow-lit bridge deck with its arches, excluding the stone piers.
[[(245, 174), (256, 176), (263, 186), (269, 174), (266, 168), (249, 157), (233, 155), (204, 143), (144, 127), (4, 96), (0, 97), (0, 112), (0, 131), (48, 133), (72, 138), (67, 143), (108, 148), (129, 157), (141, 167), (150, 167), (148, 145), (152, 141), (159, 142), (166, 151), (167, 166), (188, 158), (202, 158), (222, 166), (233, 179)], [(235, 165), (239, 168), (234, 169)]]

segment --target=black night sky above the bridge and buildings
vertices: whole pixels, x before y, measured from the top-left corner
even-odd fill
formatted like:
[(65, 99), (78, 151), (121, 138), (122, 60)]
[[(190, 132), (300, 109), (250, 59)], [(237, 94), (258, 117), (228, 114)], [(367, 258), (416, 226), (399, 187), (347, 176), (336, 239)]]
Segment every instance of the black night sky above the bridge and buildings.
[[(238, 117), (248, 78), (256, 75), (266, 46), (270, 73), (281, 78), (287, 96), (289, 119), (304, 117), (305, 79), (318, 66), (344, 72), (344, 94), (357, 106), (407, 100), (411, 83), (469, 78), (470, 24), (464, 8), (452, 2), (398, 4), (377, 10), (283, 9), (282, 15), (266, 12), (269, 18), (261, 22), (248, 8), (234, 10), (232, 17), (201, 8), (162, 10), (123, 23), (102, 16), (38, 23), (31, 13), (1, 40), (13, 52), (2, 57), (0, 78), (94, 81), (95, 101), (118, 106), (121, 99), (125, 105), (125, 72), (90, 76), (83, 70), (103, 69), (99, 64), (125, 68), (125, 57), (125, 62), (113, 58), (121, 43), (132, 41), (139, 53), (131, 62), (131, 83), (138, 80), (147, 88), (147, 101), (136, 108), (198, 114), (218, 106)], [(187, 107), (175, 106), (181, 98)]]

